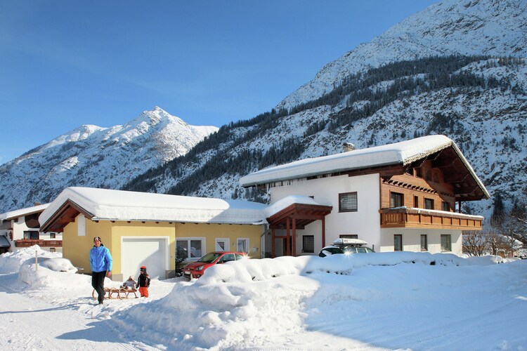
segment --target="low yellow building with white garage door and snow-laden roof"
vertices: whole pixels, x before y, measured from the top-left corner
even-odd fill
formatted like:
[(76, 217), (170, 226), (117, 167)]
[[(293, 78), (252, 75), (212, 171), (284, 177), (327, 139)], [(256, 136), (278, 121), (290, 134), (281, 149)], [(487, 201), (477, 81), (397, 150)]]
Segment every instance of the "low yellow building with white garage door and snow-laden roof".
[(90, 271), (93, 237), (110, 249), (112, 279), (174, 276), (176, 255), (188, 262), (211, 251), (260, 256), (263, 204), (167, 194), (69, 187), (40, 216), (43, 230), (63, 233), (63, 257)]

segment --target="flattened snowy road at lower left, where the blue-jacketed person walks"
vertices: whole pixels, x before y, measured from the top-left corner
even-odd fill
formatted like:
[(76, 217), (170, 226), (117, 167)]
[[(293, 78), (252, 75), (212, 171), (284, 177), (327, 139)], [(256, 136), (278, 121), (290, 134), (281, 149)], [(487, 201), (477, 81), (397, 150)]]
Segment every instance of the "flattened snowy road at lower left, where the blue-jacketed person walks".
[(13, 285), (20, 285), (17, 274), (0, 276), (0, 350), (155, 350), (122, 340), (105, 307), (89, 297), (56, 305)]

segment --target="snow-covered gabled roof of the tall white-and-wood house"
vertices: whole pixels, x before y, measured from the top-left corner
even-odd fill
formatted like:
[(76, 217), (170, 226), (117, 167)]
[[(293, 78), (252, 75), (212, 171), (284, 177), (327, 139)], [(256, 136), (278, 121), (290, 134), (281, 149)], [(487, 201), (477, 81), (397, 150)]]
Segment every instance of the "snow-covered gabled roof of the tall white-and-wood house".
[(412, 140), (405, 140), (400, 143), (342, 152), (330, 156), (301, 159), (289, 164), (282, 164), (251, 173), (242, 177), (240, 183), (243, 187), (250, 187), (282, 180), (306, 178), (361, 168), (388, 166), (392, 164), (407, 165), (448, 147), (453, 147), (462, 162), (467, 166), (471, 176), (474, 177), (483, 192), (486, 192), (483, 183), (476, 176), (476, 173), (474, 173), (467, 159), (464, 158), (461, 150), (455, 145), (453, 140), (450, 140), (445, 135), (428, 135)]

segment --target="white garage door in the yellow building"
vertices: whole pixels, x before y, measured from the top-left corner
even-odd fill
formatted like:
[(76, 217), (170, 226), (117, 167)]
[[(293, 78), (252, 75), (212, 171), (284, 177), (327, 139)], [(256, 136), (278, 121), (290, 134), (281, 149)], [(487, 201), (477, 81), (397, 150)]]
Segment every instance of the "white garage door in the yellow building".
[(121, 246), (123, 279), (137, 279), (139, 268), (144, 265), (150, 279), (164, 279), (167, 263), (167, 239), (123, 238)]

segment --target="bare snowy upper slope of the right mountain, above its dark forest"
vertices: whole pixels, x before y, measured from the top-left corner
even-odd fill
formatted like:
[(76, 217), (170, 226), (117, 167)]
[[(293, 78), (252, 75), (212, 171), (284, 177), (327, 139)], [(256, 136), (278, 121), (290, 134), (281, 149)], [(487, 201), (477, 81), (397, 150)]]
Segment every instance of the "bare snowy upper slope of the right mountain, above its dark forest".
[(350, 74), (434, 55), (527, 57), (526, 0), (445, 0), (393, 25), (379, 37), (320, 69), (278, 104), (291, 108), (320, 98)]

